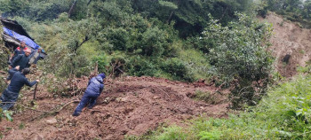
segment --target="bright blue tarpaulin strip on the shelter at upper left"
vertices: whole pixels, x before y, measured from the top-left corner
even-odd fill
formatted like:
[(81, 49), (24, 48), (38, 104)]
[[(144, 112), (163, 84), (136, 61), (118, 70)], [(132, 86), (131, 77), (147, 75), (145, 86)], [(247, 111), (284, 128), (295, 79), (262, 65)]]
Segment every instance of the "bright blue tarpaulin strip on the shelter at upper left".
[(6, 28), (6, 27), (4, 27), (4, 33), (6, 35), (12, 36), (13, 38), (19, 40), (20, 42), (22, 42), (22, 41), (25, 42), (28, 47), (31, 47), (34, 50), (37, 50), (38, 48), (40, 48), (40, 46), (38, 44), (36, 44), (33, 40), (29, 39), (28, 37), (26, 37), (24, 35), (20, 35), (20, 34), (14, 32), (12, 30)]

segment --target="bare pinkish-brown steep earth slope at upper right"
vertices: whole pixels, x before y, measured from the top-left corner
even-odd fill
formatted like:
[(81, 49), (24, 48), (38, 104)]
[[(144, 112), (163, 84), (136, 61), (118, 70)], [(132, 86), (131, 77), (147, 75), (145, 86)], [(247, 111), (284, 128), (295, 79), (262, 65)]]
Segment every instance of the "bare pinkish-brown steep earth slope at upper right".
[[(311, 30), (299, 27), (283, 19), (282, 16), (269, 12), (266, 19), (273, 24), (273, 35), (270, 47), (275, 59), (276, 69), (286, 77), (297, 74), (297, 66), (306, 66), (311, 57)], [(283, 63), (286, 54), (290, 54), (288, 64)]]

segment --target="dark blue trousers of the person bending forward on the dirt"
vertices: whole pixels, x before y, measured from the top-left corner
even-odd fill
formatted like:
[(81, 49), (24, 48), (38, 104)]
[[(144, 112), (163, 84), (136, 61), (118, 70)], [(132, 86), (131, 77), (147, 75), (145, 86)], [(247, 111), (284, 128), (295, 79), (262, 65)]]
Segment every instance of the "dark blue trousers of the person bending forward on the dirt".
[(79, 115), (82, 112), (82, 109), (84, 109), (84, 106), (89, 104), (89, 108), (92, 108), (96, 104), (96, 99), (100, 95), (98, 94), (90, 94), (88, 92), (84, 93), (84, 97), (82, 97), (79, 105), (76, 106), (76, 110), (74, 115)]

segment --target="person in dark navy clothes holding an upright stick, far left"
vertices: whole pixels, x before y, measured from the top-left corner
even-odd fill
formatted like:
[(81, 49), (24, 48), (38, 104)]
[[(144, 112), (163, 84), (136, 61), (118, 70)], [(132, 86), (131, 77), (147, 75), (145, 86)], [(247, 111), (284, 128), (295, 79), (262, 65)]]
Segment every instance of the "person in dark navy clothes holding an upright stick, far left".
[(23, 69), (21, 72), (19, 71), (19, 67), (12, 68), (9, 73), (12, 74), (12, 80), (9, 86), (4, 89), (0, 100), (1, 104), (0, 107), (3, 110), (10, 109), (15, 102), (17, 101), (20, 95), (20, 89), (26, 84), (29, 87), (35, 85), (39, 80), (34, 82), (29, 82), (28, 79), (25, 77), (26, 74), (29, 74), (29, 68)]

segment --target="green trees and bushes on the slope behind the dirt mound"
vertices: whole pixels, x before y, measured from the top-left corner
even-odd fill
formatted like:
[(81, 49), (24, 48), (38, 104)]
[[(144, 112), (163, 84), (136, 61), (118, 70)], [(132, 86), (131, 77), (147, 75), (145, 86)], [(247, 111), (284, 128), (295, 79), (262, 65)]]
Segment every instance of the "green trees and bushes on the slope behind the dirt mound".
[[(218, 77), (219, 85), (228, 87), (235, 80), (237, 89), (243, 89), (270, 73), (271, 58), (265, 51), (270, 29), (253, 14), (242, 14), (256, 6), (249, 0), (1, 3), (2, 15), (16, 19), (49, 53), (41, 63), (44, 71), (60, 77), (89, 74), (98, 63), (100, 71), (112, 76), (186, 82)], [(254, 93), (254, 88), (246, 90)], [(241, 103), (255, 101), (253, 93)]]

